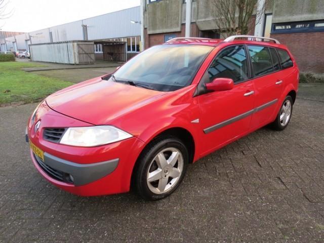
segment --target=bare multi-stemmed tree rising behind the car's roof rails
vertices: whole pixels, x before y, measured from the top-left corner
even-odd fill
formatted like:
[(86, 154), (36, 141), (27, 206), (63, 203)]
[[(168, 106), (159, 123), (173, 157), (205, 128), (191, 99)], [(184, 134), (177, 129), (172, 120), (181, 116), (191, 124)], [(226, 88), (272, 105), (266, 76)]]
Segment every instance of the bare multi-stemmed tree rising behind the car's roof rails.
[(261, 20), (259, 16), (265, 11), (265, 4), (258, 8), (260, 0), (210, 0), (211, 16), (222, 36), (233, 34), (247, 34), (252, 26), (252, 16), (256, 15), (256, 24)]

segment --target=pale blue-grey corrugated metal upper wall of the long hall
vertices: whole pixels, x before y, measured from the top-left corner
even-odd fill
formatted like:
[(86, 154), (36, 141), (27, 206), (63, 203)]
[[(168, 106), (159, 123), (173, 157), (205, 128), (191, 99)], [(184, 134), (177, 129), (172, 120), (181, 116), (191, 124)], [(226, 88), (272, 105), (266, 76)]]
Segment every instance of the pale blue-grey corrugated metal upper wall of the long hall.
[[(140, 24), (132, 24), (131, 20), (141, 20), (139, 6), (20, 34), (16, 36), (17, 47), (18, 49), (28, 49), (26, 40), (29, 37), (31, 44), (50, 43), (50, 32), (52, 32), (53, 42), (83, 40), (83, 24), (88, 26), (88, 40), (140, 36)], [(12, 40), (7, 39), (7, 44), (11, 43), (9, 46), (12, 46)]]

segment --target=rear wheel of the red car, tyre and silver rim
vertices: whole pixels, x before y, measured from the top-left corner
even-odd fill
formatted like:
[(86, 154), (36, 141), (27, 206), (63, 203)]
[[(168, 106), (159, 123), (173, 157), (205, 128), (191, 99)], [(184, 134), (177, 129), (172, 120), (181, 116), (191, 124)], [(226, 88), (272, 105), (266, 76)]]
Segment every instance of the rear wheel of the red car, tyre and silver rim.
[(284, 102), (282, 102), (282, 105), (279, 109), (278, 115), (275, 118), (274, 122), (272, 122), (272, 128), (277, 131), (284, 130), (293, 114), (293, 99), (290, 95), (286, 96)]

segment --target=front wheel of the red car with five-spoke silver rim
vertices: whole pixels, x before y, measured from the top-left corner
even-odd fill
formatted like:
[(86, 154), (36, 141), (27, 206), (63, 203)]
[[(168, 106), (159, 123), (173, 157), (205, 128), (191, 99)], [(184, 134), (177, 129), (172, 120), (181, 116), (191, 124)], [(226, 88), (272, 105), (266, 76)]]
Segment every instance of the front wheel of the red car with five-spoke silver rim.
[(137, 161), (134, 186), (138, 194), (145, 200), (169, 196), (181, 184), (188, 163), (188, 150), (179, 138), (155, 138)]

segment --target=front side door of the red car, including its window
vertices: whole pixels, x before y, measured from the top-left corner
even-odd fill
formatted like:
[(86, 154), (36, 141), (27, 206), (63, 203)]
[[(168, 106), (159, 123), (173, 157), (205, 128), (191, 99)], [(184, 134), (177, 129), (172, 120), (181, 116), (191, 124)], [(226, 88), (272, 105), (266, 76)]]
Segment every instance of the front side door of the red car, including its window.
[(254, 106), (254, 84), (249, 81), (249, 64), (244, 45), (225, 47), (216, 55), (199, 86), (215, 78), (230, 78), (234, 87), (227, 91), (203, 92), (197, 96), (199, 124), (204, 154), (248, 132)]

